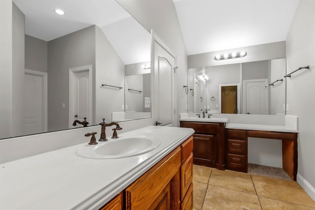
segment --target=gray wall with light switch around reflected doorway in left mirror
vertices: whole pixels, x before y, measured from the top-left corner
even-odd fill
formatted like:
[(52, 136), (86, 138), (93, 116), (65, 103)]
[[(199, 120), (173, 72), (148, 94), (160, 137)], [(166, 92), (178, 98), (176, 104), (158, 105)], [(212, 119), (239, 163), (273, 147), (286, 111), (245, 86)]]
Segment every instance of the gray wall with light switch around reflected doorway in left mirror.
[(69, 69), (89, 64), (95, 71), (95, 26), (48, 42), (48, 131), (68, 127)]

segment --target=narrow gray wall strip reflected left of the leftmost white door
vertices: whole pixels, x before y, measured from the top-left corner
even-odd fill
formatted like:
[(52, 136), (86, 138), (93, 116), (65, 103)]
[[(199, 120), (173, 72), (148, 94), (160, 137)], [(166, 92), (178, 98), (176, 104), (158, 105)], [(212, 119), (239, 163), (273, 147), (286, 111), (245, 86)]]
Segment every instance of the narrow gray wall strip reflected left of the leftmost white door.
[(14, 3), (12, 22), (12, 136), (20, 136), (24, 135), (25, 15)]

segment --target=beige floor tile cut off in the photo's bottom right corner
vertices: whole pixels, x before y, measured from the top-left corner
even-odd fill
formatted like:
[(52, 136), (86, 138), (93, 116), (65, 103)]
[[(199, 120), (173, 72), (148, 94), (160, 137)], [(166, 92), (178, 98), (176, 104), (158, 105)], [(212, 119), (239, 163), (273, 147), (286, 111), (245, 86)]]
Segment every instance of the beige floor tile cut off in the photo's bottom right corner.
[(263, 210), (315, 210), (315, 208), (292, 204), (285, 201), (279, 201), (261, 196), (259, 196), (259, 201)]

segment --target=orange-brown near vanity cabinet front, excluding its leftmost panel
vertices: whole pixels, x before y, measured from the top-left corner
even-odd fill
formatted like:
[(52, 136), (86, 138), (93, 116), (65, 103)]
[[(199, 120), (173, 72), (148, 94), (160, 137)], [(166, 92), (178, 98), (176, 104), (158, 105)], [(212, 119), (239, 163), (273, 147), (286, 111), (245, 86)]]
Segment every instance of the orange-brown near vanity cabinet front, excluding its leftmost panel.
[(191, 136), (129, 185), (126, 210), (192, 210), (192, 147)]

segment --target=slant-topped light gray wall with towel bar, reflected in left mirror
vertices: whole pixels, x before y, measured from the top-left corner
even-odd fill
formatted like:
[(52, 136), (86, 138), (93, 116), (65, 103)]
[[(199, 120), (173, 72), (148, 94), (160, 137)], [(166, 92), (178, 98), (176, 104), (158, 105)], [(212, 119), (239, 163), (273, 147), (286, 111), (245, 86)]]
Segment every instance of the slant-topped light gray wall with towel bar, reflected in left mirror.
[(112, 112), (122, 112), (125, 104), (124, 90), (101, 87), (102, 84), (124, 87), (125, 64), (107, 40), (104, 33), (95, 26), (95, 123), (111, 121)]

